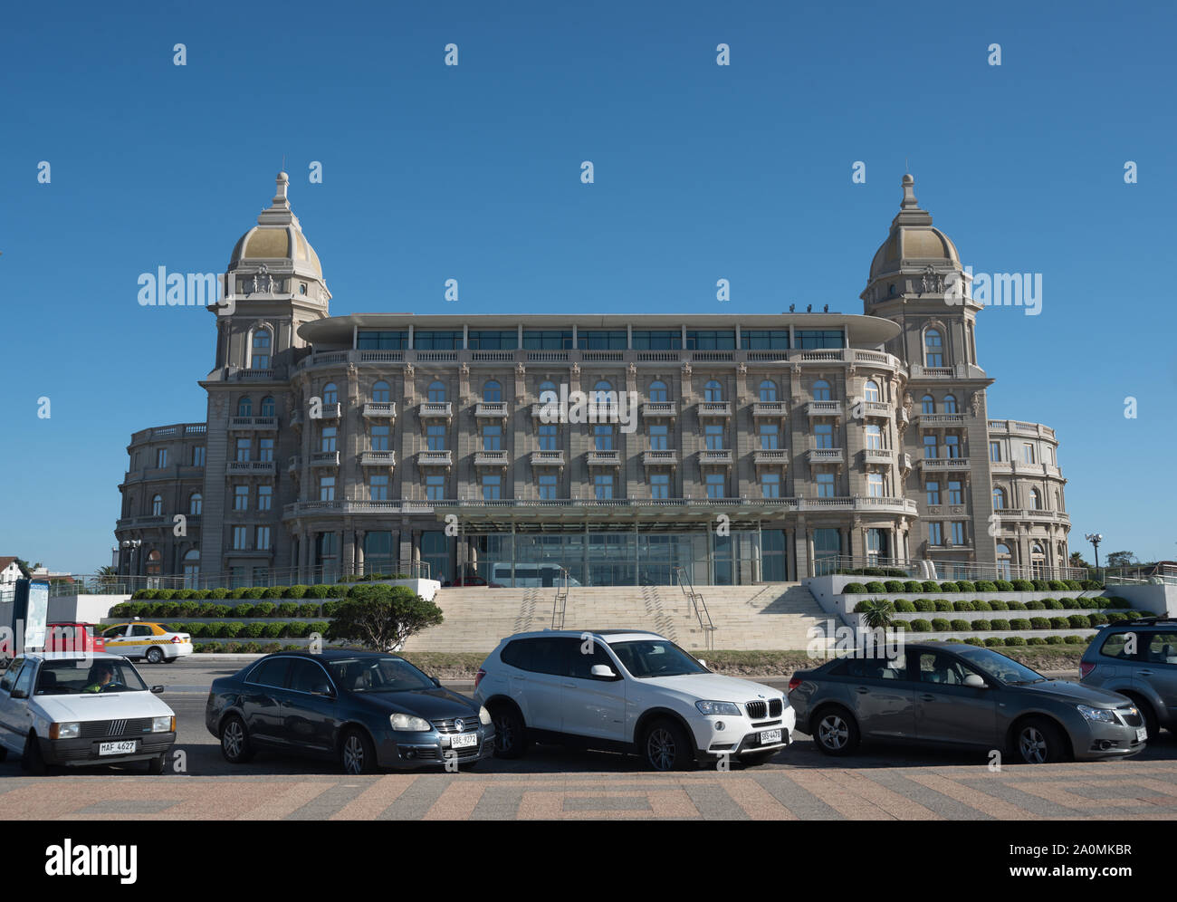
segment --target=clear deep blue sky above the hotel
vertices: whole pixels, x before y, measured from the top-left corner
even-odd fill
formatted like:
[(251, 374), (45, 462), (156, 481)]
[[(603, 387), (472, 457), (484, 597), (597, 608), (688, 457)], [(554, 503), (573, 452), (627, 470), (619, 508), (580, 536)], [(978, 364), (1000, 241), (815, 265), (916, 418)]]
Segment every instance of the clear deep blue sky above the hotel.
[(965, 263), (1043, 273), (978, 350), (1058, 430), (1072, 550), (1177, 557), (1172, 4), (137, 6), (0, 33), (0, 555), (109, 563), (129, 436), (202, 420), (214, 351), (137, 279), (224, 271), (286, 154), (333, 313), (862, 312), (910, 158)]

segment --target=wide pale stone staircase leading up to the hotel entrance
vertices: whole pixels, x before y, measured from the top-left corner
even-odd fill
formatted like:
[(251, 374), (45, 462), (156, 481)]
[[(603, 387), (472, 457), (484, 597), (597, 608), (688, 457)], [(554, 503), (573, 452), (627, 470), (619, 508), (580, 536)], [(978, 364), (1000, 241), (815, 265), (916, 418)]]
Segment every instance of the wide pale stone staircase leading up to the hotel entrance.
[[(711, 648), (800, 651), (824, 630), (825, 615), (799, 583), (703, 585), (716, 630)], [(516, 632), (551, 629), (556, 589), (441, 589), (434, 597), (445, 622), (410, 638), (406, 651), (488, 652)], [(564, 629), (632, 628), (665, 636), (685, 649), (705, 650), (706, 634), (677, 585), (573, 586)]]

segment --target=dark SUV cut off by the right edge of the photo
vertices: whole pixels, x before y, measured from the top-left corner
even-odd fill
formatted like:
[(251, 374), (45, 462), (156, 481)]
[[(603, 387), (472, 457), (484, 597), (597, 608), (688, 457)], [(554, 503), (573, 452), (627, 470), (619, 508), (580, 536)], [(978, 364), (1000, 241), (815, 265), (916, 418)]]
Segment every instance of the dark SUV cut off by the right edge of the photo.
[(1149, 739), (1177, 731), (1177, 618), (1141, 617), (1105, 626), (1079, 663), (1083, 682), (1125, 695), (1144, 716)]

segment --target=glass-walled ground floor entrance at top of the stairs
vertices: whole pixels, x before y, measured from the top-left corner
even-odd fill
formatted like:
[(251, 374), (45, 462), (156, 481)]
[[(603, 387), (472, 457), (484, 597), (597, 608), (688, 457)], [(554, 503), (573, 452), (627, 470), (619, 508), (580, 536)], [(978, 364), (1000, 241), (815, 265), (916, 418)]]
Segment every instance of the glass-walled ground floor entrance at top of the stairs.
[(679, 568), (696, 585), (785, 582), (780, 529), (591, 530), (466, 535), (466, 572), (505, 586), (673, 585)]

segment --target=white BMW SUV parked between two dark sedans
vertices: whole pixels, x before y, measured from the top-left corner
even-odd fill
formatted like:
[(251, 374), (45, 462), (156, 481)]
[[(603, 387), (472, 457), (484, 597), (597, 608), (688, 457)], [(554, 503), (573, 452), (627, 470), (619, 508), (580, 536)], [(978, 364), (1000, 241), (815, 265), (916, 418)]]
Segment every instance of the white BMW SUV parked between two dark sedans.
[(474, 697), (494, 721), (496, 754), (553, 739), (637, 752), (654, 770), (698, 758), (762, 763), (792, 742), (783, 692), (712, 674), (670, 639), (637, 630), (545, 630), (504, 639)]

